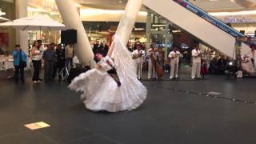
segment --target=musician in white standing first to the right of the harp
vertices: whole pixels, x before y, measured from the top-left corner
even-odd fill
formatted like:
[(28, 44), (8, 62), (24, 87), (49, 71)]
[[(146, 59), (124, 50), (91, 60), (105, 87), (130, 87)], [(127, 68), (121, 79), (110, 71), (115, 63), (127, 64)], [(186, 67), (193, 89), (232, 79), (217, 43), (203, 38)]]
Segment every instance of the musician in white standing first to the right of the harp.
[(177, 47), (174, 47), (174, 50), (170, 52), (168, 58), (170, 58), (170, 79), (178, 78), (178, 62), (180, 58), (180, 52)]

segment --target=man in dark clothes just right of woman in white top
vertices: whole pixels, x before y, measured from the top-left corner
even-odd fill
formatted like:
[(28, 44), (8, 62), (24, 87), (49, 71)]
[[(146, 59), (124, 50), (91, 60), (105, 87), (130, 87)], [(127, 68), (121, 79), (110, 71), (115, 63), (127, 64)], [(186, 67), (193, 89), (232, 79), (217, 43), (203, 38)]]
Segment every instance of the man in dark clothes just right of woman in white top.
[(42, 54), (42, 58), (45, 62), (45, 82), (51, 81), (54, 73), (55, 53), (51, 46), (54, 46), (54, 43), (51, 43)]

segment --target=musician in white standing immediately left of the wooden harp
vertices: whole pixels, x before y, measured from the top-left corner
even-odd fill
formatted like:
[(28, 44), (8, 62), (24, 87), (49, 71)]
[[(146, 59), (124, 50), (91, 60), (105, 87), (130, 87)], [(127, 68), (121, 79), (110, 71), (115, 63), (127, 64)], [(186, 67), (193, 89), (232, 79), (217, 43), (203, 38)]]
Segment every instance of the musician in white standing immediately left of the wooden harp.
[(155, 59), (158, 57), (158, 52), (154, 49), (154, 46), (151, 46), (150, 50), (147, 51), (147, 56), (149, 57), (149, 67), (148, 67), (148, 73), (147, 73), (147, 78), (150, 79), (152, 77), (152, 72), (153, 72), (153, 78), (158, 78), (158, 75), (156, 74), (156, 68), (153, 65), (152, 59), (150, 55), (152, 55)]

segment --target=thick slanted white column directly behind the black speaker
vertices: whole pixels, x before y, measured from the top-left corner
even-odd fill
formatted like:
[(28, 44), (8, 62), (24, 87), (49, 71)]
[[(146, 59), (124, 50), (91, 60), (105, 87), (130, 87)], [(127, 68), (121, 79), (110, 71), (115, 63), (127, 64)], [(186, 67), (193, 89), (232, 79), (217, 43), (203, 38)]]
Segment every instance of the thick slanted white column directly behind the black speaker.
[(75, 54), (80, 62), (89, 65), (94, 58), (94, 53), (90, 47), (86, 30), (82, 25), (82, 20), (78, 14), (78, 9), (73, 0), (55, 0), (58, 10), (62, 15), (62, 20), (68, 29), (78, 30), (78, 44), (75, 46)]

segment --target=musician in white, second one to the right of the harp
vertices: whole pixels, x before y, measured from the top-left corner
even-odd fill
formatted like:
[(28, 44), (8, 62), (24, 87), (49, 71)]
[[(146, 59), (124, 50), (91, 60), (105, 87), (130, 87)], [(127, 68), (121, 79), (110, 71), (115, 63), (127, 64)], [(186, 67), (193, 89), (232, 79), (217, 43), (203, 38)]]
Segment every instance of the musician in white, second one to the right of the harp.
[(201, 78), (201, 56), (202, 51), (199, 50), (198, 44), (194, 45), (194, 50), (192, 50), (192, 79), (194, 79), (196, 76)]

